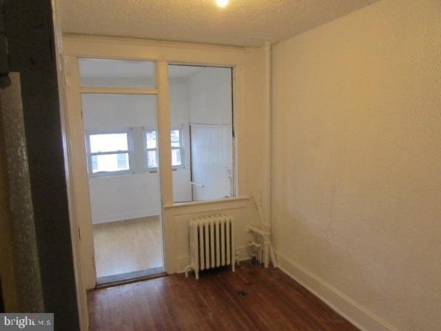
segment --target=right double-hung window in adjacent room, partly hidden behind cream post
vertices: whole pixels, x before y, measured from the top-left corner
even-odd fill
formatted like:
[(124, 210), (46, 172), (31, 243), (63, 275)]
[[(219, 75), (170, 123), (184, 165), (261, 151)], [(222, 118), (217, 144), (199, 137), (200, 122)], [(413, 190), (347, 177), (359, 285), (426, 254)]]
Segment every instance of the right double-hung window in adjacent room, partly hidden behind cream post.
[[(174, 170), (184, 167), (184, 148), (182, 143), (182, 130), (173, 129), (170, 131), (172, 142), (172, 168)], [(156, 130), (145, 130), (145, 150), (147, 170), (154, 172), (158, 168), (158, 140)]]

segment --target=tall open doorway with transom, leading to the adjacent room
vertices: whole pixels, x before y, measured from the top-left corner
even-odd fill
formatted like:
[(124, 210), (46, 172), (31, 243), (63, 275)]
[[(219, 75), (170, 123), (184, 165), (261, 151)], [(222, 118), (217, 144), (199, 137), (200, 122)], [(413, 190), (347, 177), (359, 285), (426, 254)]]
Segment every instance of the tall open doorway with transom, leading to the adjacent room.
[(155, 63), (79, 59), (96, 284), (164, 270)]

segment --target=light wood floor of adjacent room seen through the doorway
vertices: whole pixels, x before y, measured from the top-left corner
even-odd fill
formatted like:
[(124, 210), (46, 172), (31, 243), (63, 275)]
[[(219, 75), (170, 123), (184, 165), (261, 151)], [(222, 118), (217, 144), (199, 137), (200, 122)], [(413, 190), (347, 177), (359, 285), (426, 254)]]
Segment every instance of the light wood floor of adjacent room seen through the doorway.
[(163, 265), (159, 216), (93, 225), (96, 277)]

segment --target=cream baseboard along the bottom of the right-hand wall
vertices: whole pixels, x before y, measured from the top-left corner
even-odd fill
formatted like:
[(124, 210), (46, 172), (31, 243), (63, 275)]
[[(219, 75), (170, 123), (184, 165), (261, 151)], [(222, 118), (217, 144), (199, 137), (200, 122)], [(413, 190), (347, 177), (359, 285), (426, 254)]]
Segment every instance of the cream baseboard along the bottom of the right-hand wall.
[(278, 268), (289, 277), (314, 293), (327, 303), (338, 314), (356, 325), (362, 331), (398, 331), (392, 325), (380, 319), (365, 307), (356, 303), (346, 294), (334, 288), (331, 284), (312, 274), (295, 261), (285, 257), (280, 252), (276, 253)]

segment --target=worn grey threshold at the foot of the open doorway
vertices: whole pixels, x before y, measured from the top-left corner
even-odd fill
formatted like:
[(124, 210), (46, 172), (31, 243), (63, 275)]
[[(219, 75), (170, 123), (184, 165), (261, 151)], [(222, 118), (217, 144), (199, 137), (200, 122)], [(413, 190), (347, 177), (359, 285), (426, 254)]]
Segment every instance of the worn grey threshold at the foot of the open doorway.
[(135, 281), (145, 281), (167, 275), (163, 267), (125, 272), (124, 274), (112, 274), (110, 276), (97, 277), (95, 288), (107, 288), (110, 286), (134, 283)]

